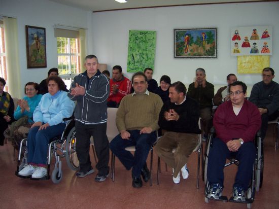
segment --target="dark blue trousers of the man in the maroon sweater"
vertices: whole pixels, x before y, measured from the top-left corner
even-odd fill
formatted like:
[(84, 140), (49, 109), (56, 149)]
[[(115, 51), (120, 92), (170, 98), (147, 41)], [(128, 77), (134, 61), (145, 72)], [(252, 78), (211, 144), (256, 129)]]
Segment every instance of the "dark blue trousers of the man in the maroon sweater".
[(219, 183), (224, 186), (224, 165), (226, 159), (233, 157), (239, 160), (238, 170), (233, 187), (248, 189), (256, 158), (256, 148), (253, 142), (244, 143), (237, 152), (230, 152), (227, 145), (219, 138), (214, 138), (213, 146), (208, 156), (207, 178), (210, 185)]

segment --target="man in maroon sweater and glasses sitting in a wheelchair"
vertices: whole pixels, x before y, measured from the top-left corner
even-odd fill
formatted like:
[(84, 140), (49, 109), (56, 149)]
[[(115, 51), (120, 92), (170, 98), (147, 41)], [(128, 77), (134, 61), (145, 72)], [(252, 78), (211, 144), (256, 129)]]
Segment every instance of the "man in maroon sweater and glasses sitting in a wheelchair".
[(214, 115), (216, 138), (208, 156), (208, 198), (222, 196), (226, 158), (240, 161), (233, 185), (233, 199), (245, 201), (256, 158), (254, 138), (261, 126), (258, 108), (246, 100), (247, 86), (236, 81), (229, 85), (230, 101), (220, 105)]

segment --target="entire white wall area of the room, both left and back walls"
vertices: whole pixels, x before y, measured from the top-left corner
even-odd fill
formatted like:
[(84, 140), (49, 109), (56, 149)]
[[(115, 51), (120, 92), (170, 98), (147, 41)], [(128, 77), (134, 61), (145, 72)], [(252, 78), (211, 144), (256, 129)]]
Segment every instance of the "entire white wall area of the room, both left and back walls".
[[(273, 28), (273, 55), (270, 66), (279, 66), (279, 2), (244, 3), (204, 6), (184, 6), (152, 9), (123, 10), (92, 13), (60, 5), (48, 0), (0, 0), (0, 14), (14, 16), (18, 22), (21, 86), (28, 81), (40, 82), (48, 69), (57, 66), (56, 38), (53, 26), (60, 23), (87, 27), (87, 53), (98, 56), (101, 63), (119, 64), (124, 73), (127, 68), (129, 30), (156, 30), (157, 45), (154, 78), (164, 74), (173, 82), (191, 83), (197, 67), (203, 67), (207, 80), (225, 84), (229, 73), (236, 74), (237, 58), (230, 56), (230, 28), (235, 26), (271, 25)], [(25, 25), (46, 28), (47, 67), (26, 67)], [(217, 59), (174, 59), (173, 29), (192, 27), (218, 28)], [(131, 74), (127, 74), (131, 78)], [(239, 80), (252, 85), (260, 75), (237, 75)], [(23, 95), (23, 93), (22, 93)]]

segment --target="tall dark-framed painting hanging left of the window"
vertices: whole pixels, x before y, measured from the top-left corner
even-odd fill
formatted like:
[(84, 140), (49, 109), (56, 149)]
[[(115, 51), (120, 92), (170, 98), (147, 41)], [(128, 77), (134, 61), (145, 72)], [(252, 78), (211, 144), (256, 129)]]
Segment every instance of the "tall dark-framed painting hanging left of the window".
[(27, 68), (47, 67), (46, 28), (25, 25)]

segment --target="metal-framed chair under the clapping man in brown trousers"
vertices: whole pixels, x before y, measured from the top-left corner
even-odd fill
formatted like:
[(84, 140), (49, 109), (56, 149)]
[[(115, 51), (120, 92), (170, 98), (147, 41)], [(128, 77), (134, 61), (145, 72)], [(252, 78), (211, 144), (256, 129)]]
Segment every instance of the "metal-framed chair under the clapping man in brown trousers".
[[(199, 120), (198, 120), (199, 129), (200, 129), (200, 120), (201, 120), (201, 118), (199, 118)], [(173, 149), (172, 152), (175, 153), (176, 149)], [(202, 145), (202, 141), (201, 141), (201, 134), (198, 134), (198, 144), (195, 147), (195, 149), (193, 150), (193, 152), (197, 152), (198, 153), (198, 165), (197, 165), (197, 189), (198, 189), (199, 188), (200, 158), (203, 155), (203, 145)], [(165, 166), (166, 166), (166, 171), (167, 171), (166, 163), (165, 163)], [(160, 157), (158, 157), (157, 184), (159, 184), (159, 173), (161, 172), (160, 167), (161, 167)]]

